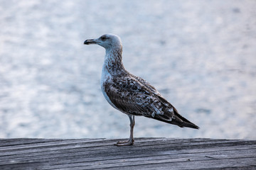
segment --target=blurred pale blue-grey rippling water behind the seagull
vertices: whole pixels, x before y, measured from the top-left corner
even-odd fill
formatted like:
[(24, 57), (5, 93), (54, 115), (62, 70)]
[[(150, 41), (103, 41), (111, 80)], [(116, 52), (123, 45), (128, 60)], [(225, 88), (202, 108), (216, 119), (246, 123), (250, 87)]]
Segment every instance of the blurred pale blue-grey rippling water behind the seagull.
[(200, 130), (136, 118), (134, 137), (256, 139), (256, 1), (0, 1), (0, 137), (129, 137), (100, 90), (122, 38), (129, 72)]

